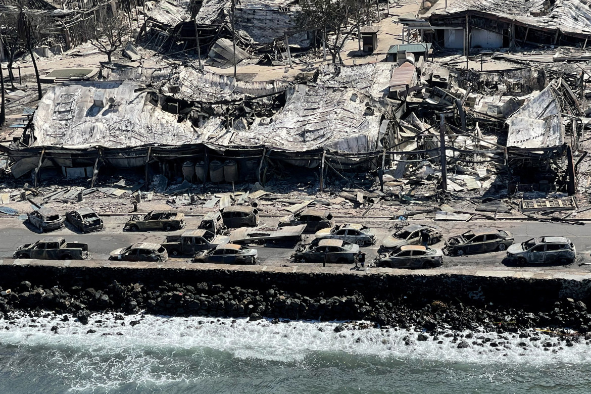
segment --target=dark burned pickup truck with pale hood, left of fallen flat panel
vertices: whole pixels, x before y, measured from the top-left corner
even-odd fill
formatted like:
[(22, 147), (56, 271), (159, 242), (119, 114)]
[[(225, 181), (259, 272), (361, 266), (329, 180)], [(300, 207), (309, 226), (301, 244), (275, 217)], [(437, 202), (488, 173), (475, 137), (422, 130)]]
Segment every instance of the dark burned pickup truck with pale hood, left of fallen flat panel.
[(194, 255), (199, 250), (209, 250), (230, 242), (230, 237), (215, 235), (209, 230), (197, 229), (183, 235), (167, 235), (161, 244), (169, 256)]

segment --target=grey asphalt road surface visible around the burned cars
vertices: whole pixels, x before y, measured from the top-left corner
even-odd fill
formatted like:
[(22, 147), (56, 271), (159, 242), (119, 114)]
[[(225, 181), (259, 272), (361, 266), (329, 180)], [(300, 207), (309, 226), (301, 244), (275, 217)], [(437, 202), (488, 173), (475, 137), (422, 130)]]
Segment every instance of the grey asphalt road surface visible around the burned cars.
[[(12, 258), (12, 253), (18, 246), (25, 243), (36, 242), (47, 236), (59, 236), (66, 238), (67, 242), (83, 242), (89, 245), (90, 256), (94, 260), (106, 260), (112, 250), (124, 248), (135, 242), (155, 242), (162, 243), (167, 235), (181, 234), (186, 229), (195, 229), (200, 222), (200, 217), (186, 217), (187, 227), (177, 232), (123, 232), (123, 226), (128, 217), (111, 216), (103, 217), (105, 229), (100, 232), (80, 234), (77, 233), (66, 223), (66, 227), (50, 233), (40, 234), (36, 229), (29, 227), (26, 222), (14, 218), (0, 218), (0, 258)], [(372, 227), (378, 232), (378, 240), (392, 233), (394, 221), (384, 219), (361, 219), (352, 218), (351, 222), (361, 223)], [(277, 218), (262, 218), (261, 226), (276, 226)], [(344, 220), (338, 220), (337, 223), (345, 223)], [(411, 222), (411, 224), (424, 224), (426, 221)], [(515, 242), (520, 243), (535, 236), (541, 235), (560, 235), (569, 237), (577, 248), (579, 257), (577, 262), (561, 269), (573, 271), (590, 271), (590, 266), (579, 266), (580, 262), (591, 262), (589, 252), (591, 252), (591, 223), (586, 226), (561, 224), (561, 223), (540, 223), (540, 222), (509, 222), (498, 221), (475, 221), (475, 222), (437, 222), (438, 226), (443, 228), (443, 239), (458, 235), (466, 230), (473, 228), (495, 227), (511, 232), (515, 237)], [(310, 239), (313, 236), (306, 236)], [(293, 245), (292, 245), (293, 246)], [(441, 248), (443, 242), (434, 245), (434, 248)], [(290, 263), (289, 259), (293, 253), (290, 247), (256, 247), (259, 250), (259, 264), (268, 266), (280, 266)], [(377, 255), (379, 248), (374, 245), (368, 248), (362, 248), (367, 253), (366, 261), (372, 261)], [(470, 266), (470, 267), (502, 267), (504, 266), (505, 252), (484, 253), (468, 256), (446, 256), (445, 266)], [(186, 261), (189, 258), (180, 258), (179, 261)]]

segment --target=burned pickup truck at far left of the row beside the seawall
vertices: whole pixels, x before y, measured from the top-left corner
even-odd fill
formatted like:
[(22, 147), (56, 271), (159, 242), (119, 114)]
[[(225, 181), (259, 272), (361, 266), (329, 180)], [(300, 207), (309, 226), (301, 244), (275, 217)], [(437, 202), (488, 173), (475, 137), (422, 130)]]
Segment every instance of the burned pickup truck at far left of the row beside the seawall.
[(12, 255), (15, 259), (84, 260), (88, 258), (86, 243), (66, 242), (63, 238), (44, 238), (19, 246)]

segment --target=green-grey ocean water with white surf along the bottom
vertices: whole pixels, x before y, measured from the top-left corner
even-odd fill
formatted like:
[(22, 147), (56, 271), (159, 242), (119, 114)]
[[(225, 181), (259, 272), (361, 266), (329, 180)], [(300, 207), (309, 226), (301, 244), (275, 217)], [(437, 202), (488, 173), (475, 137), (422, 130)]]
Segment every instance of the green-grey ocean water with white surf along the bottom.
[[(338, 323), (61, 318), (0, 320), (0, 394), (591, 392), (591, 346), (566, 347), (544, 333), (535, 342), (477, 333), (505, 343), (457, 349), (451, 337), (437, 344), (406, 330), (335, 333)], [(547, 342), (556, 346), (544, 350)]]

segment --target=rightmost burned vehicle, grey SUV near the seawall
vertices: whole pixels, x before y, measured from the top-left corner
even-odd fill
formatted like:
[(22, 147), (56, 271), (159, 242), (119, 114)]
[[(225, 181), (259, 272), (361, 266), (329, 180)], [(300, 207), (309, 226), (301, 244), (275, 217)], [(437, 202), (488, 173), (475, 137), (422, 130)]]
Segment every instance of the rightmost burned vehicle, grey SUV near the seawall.
[(514, 244), (507, 249), (507, 259), (518, 265), (569, 264), (577, 258), (577, 250), (567, 237), (542, 236)]

